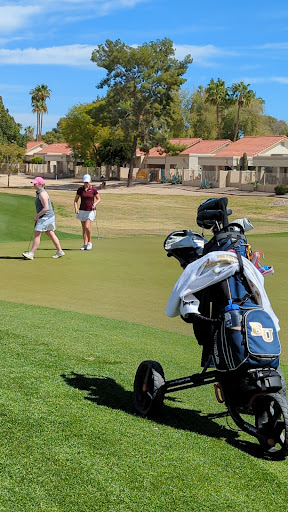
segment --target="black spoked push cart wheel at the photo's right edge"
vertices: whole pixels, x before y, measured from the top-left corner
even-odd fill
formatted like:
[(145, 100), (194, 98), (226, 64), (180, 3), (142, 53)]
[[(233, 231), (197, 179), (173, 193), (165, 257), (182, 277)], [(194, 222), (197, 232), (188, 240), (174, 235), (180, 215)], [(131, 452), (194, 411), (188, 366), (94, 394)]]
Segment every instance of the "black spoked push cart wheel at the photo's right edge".
[(288, 452), (288, 402), (279, 393), (258, 397), (254, 402), (255, 424), (264, 452), (272, 457), (282, 457)]

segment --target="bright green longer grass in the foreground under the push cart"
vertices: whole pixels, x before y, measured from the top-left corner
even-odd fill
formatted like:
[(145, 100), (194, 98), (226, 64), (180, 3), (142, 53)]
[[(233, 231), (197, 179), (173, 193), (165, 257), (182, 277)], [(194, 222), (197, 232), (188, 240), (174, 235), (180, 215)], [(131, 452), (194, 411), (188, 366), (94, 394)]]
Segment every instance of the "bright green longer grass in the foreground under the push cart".
[[(285, 510), (287, 463), (229, 428), (212, 386), (133, 415), (141, 360), (167, 378), (198, 371), (184, 335), (2, 302), (0, 510)], [(270, 508), (271, 507), (271, 508)]]

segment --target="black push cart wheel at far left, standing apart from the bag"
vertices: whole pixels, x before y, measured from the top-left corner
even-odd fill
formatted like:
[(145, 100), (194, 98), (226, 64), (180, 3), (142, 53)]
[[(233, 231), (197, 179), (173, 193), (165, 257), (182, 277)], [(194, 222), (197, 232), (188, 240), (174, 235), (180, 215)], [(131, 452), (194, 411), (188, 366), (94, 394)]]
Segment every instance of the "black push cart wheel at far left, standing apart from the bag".
[(152, 417), (159, 413), (165, 395), (165, 377), (161, 364), (143, 361), (134, 380), (134, 409), (140, 416)]

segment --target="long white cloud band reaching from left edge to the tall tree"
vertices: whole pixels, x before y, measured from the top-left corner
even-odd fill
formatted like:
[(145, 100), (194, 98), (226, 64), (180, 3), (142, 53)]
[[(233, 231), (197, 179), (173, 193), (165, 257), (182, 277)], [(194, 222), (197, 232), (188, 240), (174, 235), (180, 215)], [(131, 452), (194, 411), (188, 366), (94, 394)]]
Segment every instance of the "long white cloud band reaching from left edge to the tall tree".
[(95, 66), (90, 59), (94, 46), (70, 45), (50, 48), (26, 48), (25, 50), (0, 49), (0, 64), (43, 64), (62, 66)]

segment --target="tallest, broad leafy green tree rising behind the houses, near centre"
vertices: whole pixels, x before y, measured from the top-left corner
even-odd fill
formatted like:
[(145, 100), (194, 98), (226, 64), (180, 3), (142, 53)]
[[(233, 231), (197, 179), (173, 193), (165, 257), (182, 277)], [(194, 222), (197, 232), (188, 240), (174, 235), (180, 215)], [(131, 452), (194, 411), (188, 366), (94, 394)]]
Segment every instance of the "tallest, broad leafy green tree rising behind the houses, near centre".
[(192, 62), (190, 55), (182, 61), (174, 55), (167, 38), (137, 47), (107, 40), (92, 52), (92, 62), (107, 72), (97, 87), (108, 88), (111, 122), (131, 140), (128, 187), (138, 143), (147, 151), (157, 139), (167, 140), (173, 94), (186, 81), (183, 75)]

